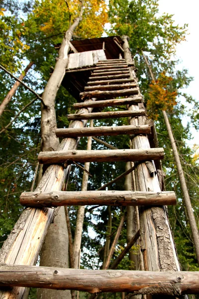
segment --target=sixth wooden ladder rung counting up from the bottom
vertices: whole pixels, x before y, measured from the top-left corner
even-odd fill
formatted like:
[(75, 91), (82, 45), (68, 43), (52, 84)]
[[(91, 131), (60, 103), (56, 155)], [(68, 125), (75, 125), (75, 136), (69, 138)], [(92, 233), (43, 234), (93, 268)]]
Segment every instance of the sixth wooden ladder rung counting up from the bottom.
[(132, 105), (142, 102), (142, 97), (135, 96), (134, 98), (124, 98), (124, 99), (110, 99), (104, 101), (96, 101), (89, 103), (75, 103), (73, 104), (76, 108), (88, 108), (88, 107), (114, 107), (119, 105)]

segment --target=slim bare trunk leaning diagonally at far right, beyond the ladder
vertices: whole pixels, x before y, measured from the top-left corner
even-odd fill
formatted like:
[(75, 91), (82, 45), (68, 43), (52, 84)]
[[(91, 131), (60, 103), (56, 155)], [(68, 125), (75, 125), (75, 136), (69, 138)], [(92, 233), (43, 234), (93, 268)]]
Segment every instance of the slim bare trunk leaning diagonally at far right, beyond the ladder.
[[(149, 64), (149, 62), (148, 62), (148, 60), (147, 60), (147, 58), (146, 58), (143, 51), (142, 51), (142, 54), (143, 54), (144, 60), (146, 62), (146, 65), (149, 69), (151, 79), (153, 81), (155, 81), (155, 77), (154, 77), (154, 74), (152, 72), (151, 66), (150, 66), (150, 64)], [(197, 256), (197, 261), (198, 261), (198, 264), (199, 264), (199, 230), (198, 230), (196, 219), (195, 219), (195, 216), (194, 216), (192, 203), (191, 203), (191, 200), (190, 200), (190, 195), (189, 195), (187, 183), (186, 183), (186, 180), (185, 180), (183, 167), (182, 167), (182, 164), (181, 164), (181, 161), (180, 161), (180, 156), (179, 156), (179, 153), (178, 153), (178, 149), (177, 149), (175, 139), (174, 139), (174, 136), (173, 136), (171, 124), (169, 122), (166, 111), (163, 110), (162, 113), (163, 113), (163, 116), (164, 116), (164, 120), (165, 120), (165, 124), (166, 124), (166, 127), (167, 127), (169, 139), (170, 139), (171, 146), (172, 146), (172, 149), (173, 149), (174, 159), (175, 159), (175, 162), (176, 162), (176, 167), (177, 167), (177, 170), (178, 170), (178, 175), (179, 175), (179, 179), (180, 179), (180, 183), (181, 183), (181, 189), (182, 189), (182, 192), (183, 192), (183, 197), (184, 197), (184, 201), (185, 201), (187, 215), (188, 215), (188, 219), (189, 219), (190, 227), (191, 227), (191, 231), (192, 231), (192, 236), (193, 236), (193, 241), (194, 241), (194, 246), (195, 246), (196, 256)]]

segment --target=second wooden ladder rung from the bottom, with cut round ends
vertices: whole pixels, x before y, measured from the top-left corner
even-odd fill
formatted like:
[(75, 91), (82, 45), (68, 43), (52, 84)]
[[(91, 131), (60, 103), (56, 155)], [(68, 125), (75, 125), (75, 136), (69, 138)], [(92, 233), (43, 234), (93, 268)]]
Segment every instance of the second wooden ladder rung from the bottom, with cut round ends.
[(168, 192), (142, 191), (52, 191), (23, 192), (20, 204), (29, 207), (71, 205), (162, 206), (176, 205), (176, 195)]

